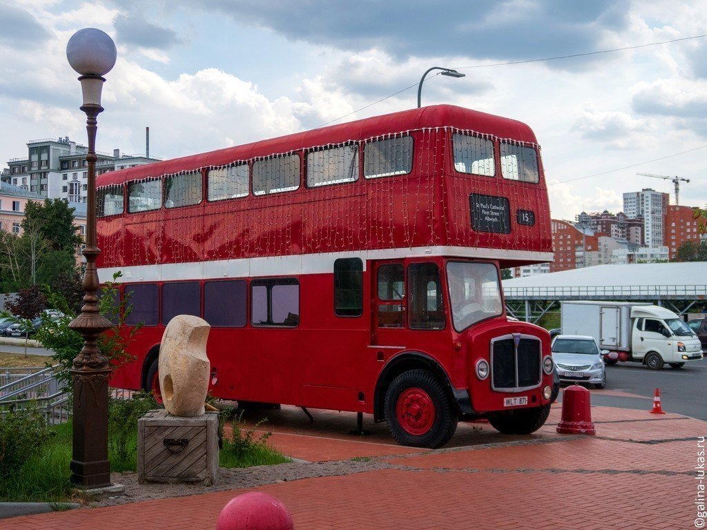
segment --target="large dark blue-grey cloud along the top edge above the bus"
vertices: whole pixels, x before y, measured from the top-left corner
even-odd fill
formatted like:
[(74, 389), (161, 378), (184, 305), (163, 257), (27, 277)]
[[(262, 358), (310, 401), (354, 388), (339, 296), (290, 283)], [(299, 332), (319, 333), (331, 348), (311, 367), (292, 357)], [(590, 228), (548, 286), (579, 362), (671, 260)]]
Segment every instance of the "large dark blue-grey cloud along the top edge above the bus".
[(628, 2), (612, 0), (361, 0), (349, 8), (340, 2), (309, 0), (296, 9), (286, 0), (190, 0), (190, 4), (292, 40), (354, 52), (375, 48), (396, 59), (452, 55), (517, 60), (557, 54), (558, 49), (585, 52), (597, 47), (603, 30), (624, 27), (629, 10)]

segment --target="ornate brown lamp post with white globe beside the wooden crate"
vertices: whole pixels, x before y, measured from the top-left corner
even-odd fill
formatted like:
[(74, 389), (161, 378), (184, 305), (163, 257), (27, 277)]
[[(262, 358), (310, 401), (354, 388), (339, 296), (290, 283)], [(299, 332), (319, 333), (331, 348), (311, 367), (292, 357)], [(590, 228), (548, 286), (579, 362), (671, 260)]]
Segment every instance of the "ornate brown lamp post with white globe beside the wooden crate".
[(86, 199), (86, 272), (83, 276), (83, 307), (69, 327), (83, 337), (83, 348), (74, 359), (71, 377), (74, 386), (74, 431), (71, 482), (80, 488), (110, 486), (108, 461), (108, 377), (110, 365), (98, 348), (98, 336), (112, 326), (98, 309), (98, 271), (100, 254), (95, 235), (95, 134), (98, 129), (100, 93), (103, 76), (115, 64), (117, 52), (112, 39), (101, 30), (79, 30), (66, 45), (66, 59), (81, 74), (83, 105), (88, 132), (88, 198)]

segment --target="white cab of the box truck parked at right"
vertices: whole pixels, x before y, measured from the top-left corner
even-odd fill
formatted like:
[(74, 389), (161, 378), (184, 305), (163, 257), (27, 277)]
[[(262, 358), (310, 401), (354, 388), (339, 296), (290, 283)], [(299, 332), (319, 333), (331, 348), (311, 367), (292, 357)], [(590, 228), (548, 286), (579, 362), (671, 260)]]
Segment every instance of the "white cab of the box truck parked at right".
[(631, 356), (651, 370), (702, 358), (699, 338), (674, 312), (655, 305), (631, 308)]

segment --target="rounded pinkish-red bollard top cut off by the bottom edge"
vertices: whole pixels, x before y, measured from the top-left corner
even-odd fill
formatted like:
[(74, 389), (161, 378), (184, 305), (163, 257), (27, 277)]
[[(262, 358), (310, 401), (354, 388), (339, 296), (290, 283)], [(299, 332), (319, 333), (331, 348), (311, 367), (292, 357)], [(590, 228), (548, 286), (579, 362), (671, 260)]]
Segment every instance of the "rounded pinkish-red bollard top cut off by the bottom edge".
[(293, 530), (292, 516), (271, 495), (252, 491), (228, 501), (216, 519), (216, 530)]

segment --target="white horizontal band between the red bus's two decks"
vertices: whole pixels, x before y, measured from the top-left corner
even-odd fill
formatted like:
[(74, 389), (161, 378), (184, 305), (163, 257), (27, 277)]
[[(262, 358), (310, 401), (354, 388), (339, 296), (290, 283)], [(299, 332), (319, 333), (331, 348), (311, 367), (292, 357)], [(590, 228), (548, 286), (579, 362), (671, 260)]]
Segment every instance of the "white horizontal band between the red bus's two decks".
[(111, 281), (113, 273), (117, 271), (122, 273), (122, 278), (119, 281), (124, 282), (300, 276), (303, 274), (332, 273), (334, 271), (334, 261), (339, 258), (361, 258), (363, 269), (366, 270), (366, 260), (368, 259), (403, 259), (429, 256), (513, 259), (537, 263), (552, 261), (553, 259), (551, 252), (473, 247), (412, 247), (105, 267), (98, 269), (98, 277), (101, 282)]

